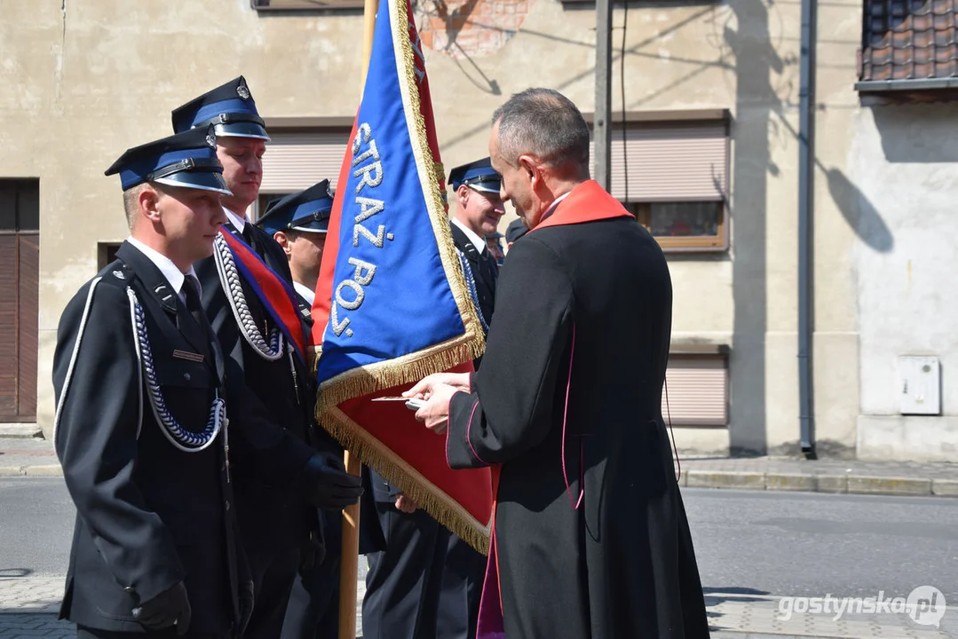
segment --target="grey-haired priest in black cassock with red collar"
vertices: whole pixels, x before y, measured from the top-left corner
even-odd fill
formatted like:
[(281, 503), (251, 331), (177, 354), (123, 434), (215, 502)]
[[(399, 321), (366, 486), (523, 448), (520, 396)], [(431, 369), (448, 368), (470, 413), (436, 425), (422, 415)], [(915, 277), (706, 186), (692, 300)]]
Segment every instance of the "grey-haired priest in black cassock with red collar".
[(528, 89), (493, 123), (492, 167), (531, 231), (502, 269), (479, 371), (407, 393), (427, 399), (417, 418), (446, 433), (452, 468), (498, 478), (478, 636), (708, 637), (661, 413), (668, 265), (588, 179), (573, 103)]

